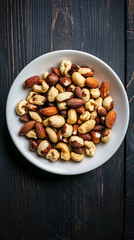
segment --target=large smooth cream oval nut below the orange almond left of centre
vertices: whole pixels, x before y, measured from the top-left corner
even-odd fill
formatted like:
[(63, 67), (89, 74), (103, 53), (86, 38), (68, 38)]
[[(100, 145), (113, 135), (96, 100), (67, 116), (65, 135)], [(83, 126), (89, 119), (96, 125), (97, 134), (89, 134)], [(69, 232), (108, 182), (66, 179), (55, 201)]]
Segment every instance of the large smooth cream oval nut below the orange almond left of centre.
[(50, 126), (60, 128), (65, 124), (65, 119), (60, 115), (54, 115), (48, 119)]

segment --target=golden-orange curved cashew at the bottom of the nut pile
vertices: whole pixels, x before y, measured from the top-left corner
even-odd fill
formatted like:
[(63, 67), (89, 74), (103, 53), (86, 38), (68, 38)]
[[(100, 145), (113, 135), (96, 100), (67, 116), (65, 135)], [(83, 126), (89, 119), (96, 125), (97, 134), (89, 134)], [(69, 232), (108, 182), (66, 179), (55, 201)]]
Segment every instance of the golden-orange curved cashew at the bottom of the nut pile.
[(66, 161), (69, 161), (69, 159), (70, 159), (70, 150), (69, 150), (67, 144), (65, 144), (63, 142), (59, 142), (56, 145), (56, 148), (61, 149), (61, 158), (66, 160)]

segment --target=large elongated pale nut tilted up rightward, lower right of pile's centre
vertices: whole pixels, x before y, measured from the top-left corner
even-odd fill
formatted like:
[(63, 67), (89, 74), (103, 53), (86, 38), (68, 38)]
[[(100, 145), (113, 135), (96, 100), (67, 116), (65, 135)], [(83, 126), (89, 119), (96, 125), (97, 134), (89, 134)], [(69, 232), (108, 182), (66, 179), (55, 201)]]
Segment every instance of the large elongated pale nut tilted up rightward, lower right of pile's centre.
[(95, 121), (90, 119), (80, 125), (80, 127), (78, 128), (78, 132), (82, 134), (90, 132), (94, 128), (94, 126)]

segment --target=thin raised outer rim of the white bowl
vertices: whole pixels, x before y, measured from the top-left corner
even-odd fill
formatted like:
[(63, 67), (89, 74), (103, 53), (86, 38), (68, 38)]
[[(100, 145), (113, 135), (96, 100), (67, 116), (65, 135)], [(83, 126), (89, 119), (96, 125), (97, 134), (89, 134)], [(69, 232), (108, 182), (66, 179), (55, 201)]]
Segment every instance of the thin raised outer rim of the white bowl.
[[(33, 64), (34, 62), (38, 61), (38, 59), (43, 58), (44, 56), (47, 57), (47, 56), (50, 56), (50, 55), (57, 55), (58, 53), (67, 53), (67, 52), (70, 53), (70, 55), (71, 55), (71, 54), (75, 54), (75, 53), (79, 53), (79, 54), (82, 54), (82, 55), (85, 55), (85, 56), (88, 56), (88, 57), (92, 57), (93, 59), (95, 59), (95, 60), (97, 60), (98, 62), (102, 63), (102, 64), (103, 64), (109, 71), (111, 71), (111, 73), (116, 77), (117, 81), (118, 81), (119, 84), (120, 84), (120, 87), (122, 88), (122, 91), (124, 92), (125, 102), (126, 102), (126, 105), (127, 105), (127, 108), (126, 108), (126, 111), (127, 111), (127, 112), (126, 112), (126, 117), (127, 117), (127, 119), (126, 119), (126, 125), (124, 126), (124, 134), (122, 135), (122, 138), (120, 139), (120, 144), (114, 149), (114, 152), (113, 152), (113, 154), (112, 154), (112, 156), (113, 156), (114, 153), (117, 151), (117, 149), (120, 147), (120, 145), (121, 145), (121, 143), (122, 143), (122, 141), (123, 141), (123, 139), (124, 139), (124, 137), (125, 137), (127, 128), (128, 128), (128, 123), (129, 123), (129, 103), (128, 103), (128, 97), (127, 97), (126, 91), (125, 91), (125, 89), (124, 89), (124, 86), (123, 86), (121, 80), (119, 79), (119, 77), (117, 76), (117, 74), (112, 70), (112, 68), (111, 68), (110, 66), (108, 66), (105, 62), (103, 62), (103, 61), (100, 60), (98, 57), (95, 57), (95, 56), (92, 55), (92, 54), (89, 54), (89, 53), (86, 53), (86, 52), (83, 52), (83, 51), (67, 49), (67, 50), (57, 50), (57, 51), (52, 51), (52, 52), (49, 52), (49, 53), (45, 53), (45, 54), (37, 57), (37, 58), (34, 59), (33, 61), (31, 61), (29, 64), (27, 64), (27, 65), (22, 69), (22, 71), (24, 71), (26, 67), (30, 66), (30, 65)], [(10, 88), (10, 91), (9, 91), (9, 94), (8, 94), (8, 98), (7, 98), (7, 103), (6, 103), (6, 121), (7, 121), (7, 127), (8, 127), (8, 131), (9, 131), (9, 133), (10, 133), (10, 135), (11, 135), (11, 138), (12, 138), (12, 140), (13, 140), (14, 143), (16, 142), (16, 140), (15, 140), (15, 137), (14, 137), (14, 135), (13, 135), (13, 133), (12, 133), (12, 129), (10, 128), (10, 124), (9, 124), (9, 120), (8, 120), (8, 104), (9, 104), (9, 101), (10, 101), (10, 92), (11, 92), (11, 89), (12, 89), (12, 88), (14, 87), (14, 85), (16, 84), (17, 78), (20, 76), (20, 74), (22, 73), (22, 71), (18, 74), (18, 76), (17, 76), (16, 79), (14, 80), (14, 82), (13, 82), (11, 88)], [(33, 163), (35, 166), (37, 166), (37, 167), (39, 167), (39, 168), (41, 168), (41, 169), (43, 169), (43, 170), (46, 170), (46, 171), (48, 171), (48, 172), (55, 173), (55, 174), (60, 174), (60, 175), (76, 175), (76, 174), (86, 173), (86, 172), (88, 172), (88, 171), (91, 171), (91, 170), (93, 170), (93, 169), (101, 166), (102, 164), (104, 164), (104, 163), (108, 160), (108, 159), (105, 160), (103, 163), (98, 162), (98, 164), (96, 164), (96, 166), (95, 166), (94, 168), (90, 169), (90, 170), (89, 170), (89, 169), (86, 169), (86, 170), (81, 170), (80, 172), (79, 172), (79, 171), (78, 171), (78, 172), (77, 172), (77, 171), (74, 171), (74, 172), (71, 172), (71, 173), (69, 173), (69, 172), (63, 172), (63, 173), (62, 173), (61, 170), (60, 170), (60, 171), (57, 171), (57, 170), (55, 171), (54, 168), (53, 168), (53, 169), (52, 169), (52, 168), (45, 168), (45, 167), (43, 166), (43, 164), (40, 164), (38, 161), (37, 161), (37, 162), (33, 162), (30, 158), (27, 157), (27, 154), (25, 154), (25, 153), (22, 151), (21, 147), (20, 147), (18, 144), (15, 144), (15, 145), (16, 145), (16, 147), (18, 148), (18, 150), (22, 153), (22, 155), (23, 155), (26, 159), (28, 159), (31, 163)], [(76, 163), (76, 164), (77, 164), (77, 163)]]

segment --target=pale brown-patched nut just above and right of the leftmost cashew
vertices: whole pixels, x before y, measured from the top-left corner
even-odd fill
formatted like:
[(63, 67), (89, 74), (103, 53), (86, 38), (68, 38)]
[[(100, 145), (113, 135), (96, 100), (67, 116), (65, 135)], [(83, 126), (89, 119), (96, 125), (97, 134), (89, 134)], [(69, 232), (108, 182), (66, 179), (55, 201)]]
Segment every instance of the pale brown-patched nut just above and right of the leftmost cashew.
[(46, 98), (36, 92), (30, 92), (27, 97), (27, 102), (35, 105), (43, 105), (46, 101)]

